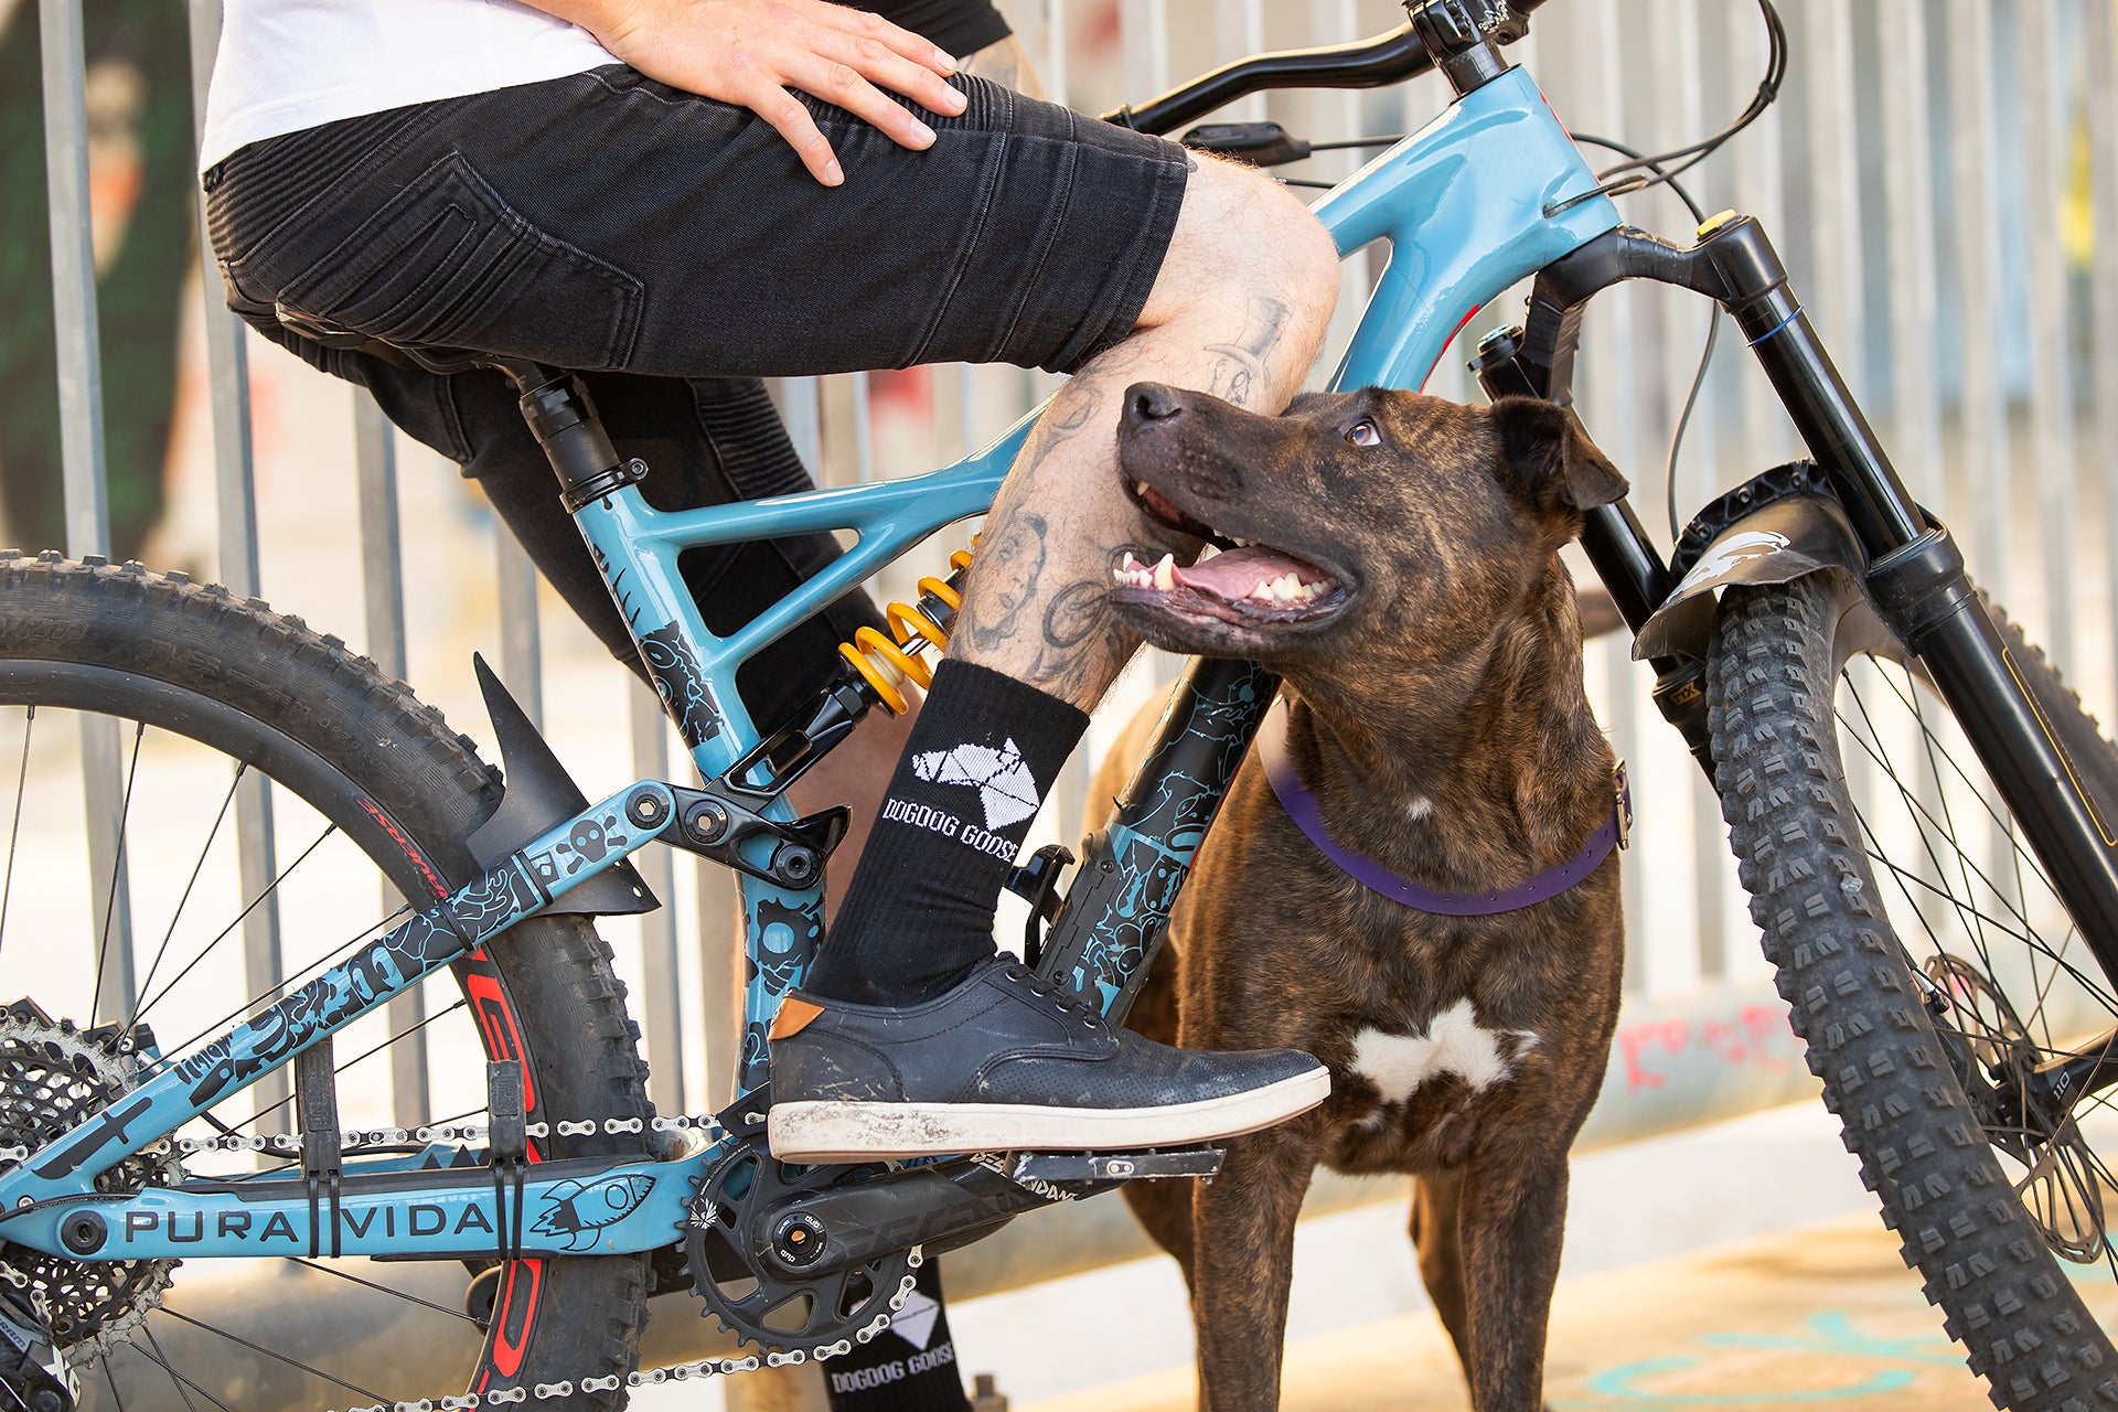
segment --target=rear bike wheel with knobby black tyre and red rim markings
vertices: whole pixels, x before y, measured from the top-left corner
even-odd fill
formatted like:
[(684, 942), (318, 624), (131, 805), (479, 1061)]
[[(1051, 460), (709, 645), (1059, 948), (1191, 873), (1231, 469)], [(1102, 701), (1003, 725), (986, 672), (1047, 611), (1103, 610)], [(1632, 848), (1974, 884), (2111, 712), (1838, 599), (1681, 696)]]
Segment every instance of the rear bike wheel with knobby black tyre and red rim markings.
[[(85, 804), (83, 758), (97, 752), (110, 790)], [(32, 1001), (0, 1018), (0, 1143), (34, 1147), (152, 1071), (121, 1042), (133, 1025), (180, 1056), (280, 978), (445, 895), (472, 876), (460, 840), (498, 800), (468, 739), (294, 618), (138, 565), (0, 561), (0, 1001)], [(91, 859), (95, 819), (114, 828)], [(610, 951), (582, 919), (521, 923), (415, 995), (335, 1035), (345, 1130), (483, 1122), (483, 1061), (519, 1058), (532, 1120), (555, 1133), (532, 1141), (536, 1158), (644, 1149), (644, 1135), (602, 1130), (648, 1114), (646, 1071)], [(165, 1158), (106, 1181), (299, 1175), (284, 1149), (237, 1141), (292, 1130), (288, 1082), (265, 1075)], [(559, 1120), (597, 1133), (561, 1137)], [(443, 1149), (398, 1143), (405, 1162)], [(0, 1266), (49, 1291), (85, 1406), (112, 1410), (388, 1406), (612, 1374), (623, 1387), (646, 1317), (640, 1257), (172, 1268), (0, 1245)]]

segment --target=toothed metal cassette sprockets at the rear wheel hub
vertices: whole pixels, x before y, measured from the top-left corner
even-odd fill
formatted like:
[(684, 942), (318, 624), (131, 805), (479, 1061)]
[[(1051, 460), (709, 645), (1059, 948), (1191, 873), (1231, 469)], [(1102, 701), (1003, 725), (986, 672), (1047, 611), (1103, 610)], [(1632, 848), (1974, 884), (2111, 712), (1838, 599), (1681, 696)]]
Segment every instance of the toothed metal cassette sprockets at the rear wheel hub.
[[(0, 1012), (0, 1145), (36, 1152), (104, 1114), (140, 1082), (140, 1056), (114, 1025), (83, 1031), (30, 1001)], [(0, 1162), (13, 1166), (13, 1160)], [(97, 1192), (184, 1179), (169, 1143), (95, 1177)], [(68, 1359), (108, 1353), (161, 1304), (176, 1260), (68, 1260), (0, 1243), (0, 1279), (44, 1298), (51, 1336)]]

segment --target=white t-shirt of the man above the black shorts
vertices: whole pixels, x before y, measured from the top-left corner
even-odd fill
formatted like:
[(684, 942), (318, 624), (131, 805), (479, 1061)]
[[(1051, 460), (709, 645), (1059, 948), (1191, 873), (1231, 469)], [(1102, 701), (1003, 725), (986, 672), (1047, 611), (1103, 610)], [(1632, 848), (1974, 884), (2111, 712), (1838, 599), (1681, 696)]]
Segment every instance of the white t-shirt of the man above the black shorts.
[(199, 169), (263, 138), (616, 64), (517, 0), (227, 0)]

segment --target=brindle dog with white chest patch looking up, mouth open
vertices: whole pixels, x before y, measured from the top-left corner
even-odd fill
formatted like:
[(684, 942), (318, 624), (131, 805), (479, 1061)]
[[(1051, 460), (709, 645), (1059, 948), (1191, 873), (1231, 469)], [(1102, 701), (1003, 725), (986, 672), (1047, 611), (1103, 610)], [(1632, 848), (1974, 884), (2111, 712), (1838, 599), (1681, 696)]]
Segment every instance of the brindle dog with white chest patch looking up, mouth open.
[[(1627, 487), (1565, 411), (1358, 392), (1256, 417), (1142, 385), (1120, 453), (1152, 519), (1228, 548), (1127, 557), (1112, 601), (1161, 648), (1281, 673), (1290, 760), (1343, 849), (1430, 889), (1500, 891), (1612, 817), (1559, 546)], [(1239, 773), (1133, 1025), (1309, 1050), (1332, 1097), (1231, 1141), (1214, 1183), (1125, 1188), (1184, 1266), (1203, 1408), (1279, 1401), (1320, 1162), (1417, 1177), (1419, 1272), (1472, 1404), (1540, 1406), (1567, 1147), (1618, 1018), (1622, 925), (1616, 851), (1521, 910), (1419, 912), (1326, 859), (1256, 760)]]

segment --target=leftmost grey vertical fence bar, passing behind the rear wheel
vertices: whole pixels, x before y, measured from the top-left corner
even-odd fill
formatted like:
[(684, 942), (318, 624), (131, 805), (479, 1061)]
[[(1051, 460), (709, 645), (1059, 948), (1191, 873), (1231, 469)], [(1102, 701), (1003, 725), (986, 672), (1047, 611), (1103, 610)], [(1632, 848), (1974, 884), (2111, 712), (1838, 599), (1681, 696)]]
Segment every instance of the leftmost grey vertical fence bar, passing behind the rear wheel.
[[(110, 506), (104, 493), (104, 383), (78, 0), (40, 0), (38, 42), (44, 70), (44, 188), (51, 205), (66, 553), (80, 559), (110, 550)], [(97, 1020), (123, 1020), (133, 1008), (133, 959), (131, 885), (123, 855), (123, 743), (116, 720), (80, 718), (80, 790), (87, 802), (89, 938), (104, 957), (93, 1014)]]

